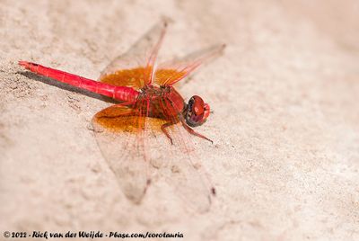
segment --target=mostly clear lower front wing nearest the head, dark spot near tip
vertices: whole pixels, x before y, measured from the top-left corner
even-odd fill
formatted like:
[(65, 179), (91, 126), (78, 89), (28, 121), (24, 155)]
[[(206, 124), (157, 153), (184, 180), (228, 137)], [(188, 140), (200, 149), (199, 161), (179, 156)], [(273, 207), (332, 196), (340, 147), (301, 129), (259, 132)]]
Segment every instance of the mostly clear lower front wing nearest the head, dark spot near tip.
[[(209, 210), (215, 195), (215, 188), (210, 182), (208, 174), (198, 161), (201, 160), (197, 153), (194, 140), (202, 141), (188, 133), (182, 126), (181, 114), (171, 100), (163, 99), (163, 109), (170, 112), (178, 112), (178, 115), (168, 117), (168, 122), (173, 123), (167, 128), (168, 134), (173, 140), (173, 145), (168, 138), (161, 133), (161, 138), (154, 139), (152, 145), (158, 146), (162, 142), (167, 145), (164, 158), (156, 159), (163, 162), (169, 168), (164, 169), (167, 183), (171, 185), (186, 206), (192, 210), (206, 212)], [(165, 110), (163, 110), (165, 112)]]

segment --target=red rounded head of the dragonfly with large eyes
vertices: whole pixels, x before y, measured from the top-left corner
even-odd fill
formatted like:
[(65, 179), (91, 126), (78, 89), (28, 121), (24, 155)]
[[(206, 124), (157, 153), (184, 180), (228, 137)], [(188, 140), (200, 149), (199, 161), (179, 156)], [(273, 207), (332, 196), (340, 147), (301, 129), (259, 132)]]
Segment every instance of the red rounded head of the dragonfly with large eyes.
[(205, 123), (210, 112), (209, 104), (198, 95), (193, 95), (187, 105), (185, 119), (190, 127), (197, 127)]

